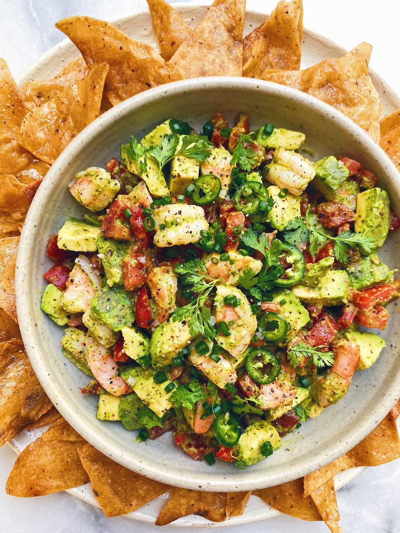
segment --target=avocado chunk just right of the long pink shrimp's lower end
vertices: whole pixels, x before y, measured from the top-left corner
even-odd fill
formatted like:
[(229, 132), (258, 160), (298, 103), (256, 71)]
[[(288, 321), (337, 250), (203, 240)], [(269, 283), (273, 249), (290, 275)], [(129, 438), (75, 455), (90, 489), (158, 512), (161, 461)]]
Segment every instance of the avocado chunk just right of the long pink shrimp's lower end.
[(154, 374), (155, 370), (146, 370), (142, 367), (121, 368), (122, 379), (125, 379), (147, 407), (154, 411), (157, 416), (162, 417), (172, 407), (170, 401), (172, 392), (166, 392), (165, 387), (170, 383), (174, 383), (174, 385), (177, 383), (167, 379), (164, 383), (157, 384), (153, 379)]

